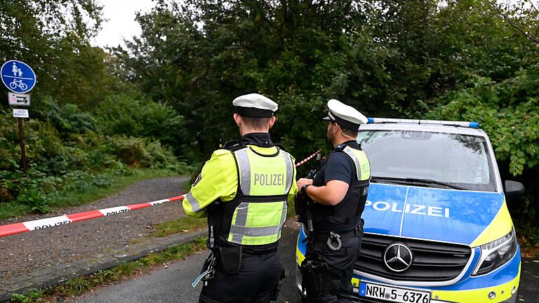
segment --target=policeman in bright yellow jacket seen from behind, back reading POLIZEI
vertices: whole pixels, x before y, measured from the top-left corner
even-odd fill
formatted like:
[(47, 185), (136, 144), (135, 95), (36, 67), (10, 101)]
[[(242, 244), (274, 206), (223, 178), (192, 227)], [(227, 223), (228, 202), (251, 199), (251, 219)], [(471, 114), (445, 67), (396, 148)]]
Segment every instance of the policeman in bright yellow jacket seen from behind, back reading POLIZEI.
[(183, 200), (187, 215), (208, 216), (199, 302), (270, 302), (284, 277), (277, 241), (298, 192), (294, 158), (268, 133), (277, 103), (253, 93), (232, 105), (241, 141), (213, 152)]

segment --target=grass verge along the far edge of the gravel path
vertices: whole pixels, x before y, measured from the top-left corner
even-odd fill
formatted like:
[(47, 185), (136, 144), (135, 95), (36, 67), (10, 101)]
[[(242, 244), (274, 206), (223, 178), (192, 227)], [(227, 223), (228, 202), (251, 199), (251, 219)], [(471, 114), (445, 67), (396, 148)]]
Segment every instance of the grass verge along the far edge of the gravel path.
[[(165, 169), (133, 168), (129, 169), (128, 174), (118, 175), (112, 172), (102, 174), (97, 182), (95, 180), (92, 180), (92, 182), (90, 182), (90, 180), (88, 180), (88, 182), (84, 182), (84, 180), (77, 180), (77, 182), (82, 184), (79, 187), (44, 194), (47, 206), (46, 210), (84, 205), (97, 201), (100, 198), (104, 198), (111, 194), (115, 194), (134, 182), (154, 179), (157, 177), (171, 176), (178, 176), (178, 173)], [(32, 210), (32, 207), (28, 204), (23, 204), (18, 201), (0, 203), (0, 220), (10, 217), (20, 217), (30, 213), (35, 213), (35, 210)]]

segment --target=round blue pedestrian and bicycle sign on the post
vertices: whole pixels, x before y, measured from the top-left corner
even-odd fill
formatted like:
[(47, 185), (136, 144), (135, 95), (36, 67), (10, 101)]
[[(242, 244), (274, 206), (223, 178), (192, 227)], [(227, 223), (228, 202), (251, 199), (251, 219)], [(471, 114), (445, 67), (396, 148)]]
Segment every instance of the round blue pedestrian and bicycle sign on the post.
[(27, 93), (36, 85), (34, 69), (25, 62), (9, 60), (0, 69), (2, 82), (13, 93)]

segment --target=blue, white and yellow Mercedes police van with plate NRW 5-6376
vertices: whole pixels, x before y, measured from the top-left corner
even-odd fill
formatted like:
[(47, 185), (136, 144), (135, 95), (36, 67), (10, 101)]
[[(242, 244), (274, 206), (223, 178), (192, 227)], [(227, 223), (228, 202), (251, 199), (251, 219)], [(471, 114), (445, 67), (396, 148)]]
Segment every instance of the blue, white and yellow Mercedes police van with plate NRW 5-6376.
[[(358, 302), (515, 302), (520, 248), (506, 199), (522, 184), (500, 180), (479, 123), (369, 119), (358, 139), (371, 161)], [(296, 262), (305, 259), (305, 227)], [(300, 271), (296, 270), (302, 292)]]

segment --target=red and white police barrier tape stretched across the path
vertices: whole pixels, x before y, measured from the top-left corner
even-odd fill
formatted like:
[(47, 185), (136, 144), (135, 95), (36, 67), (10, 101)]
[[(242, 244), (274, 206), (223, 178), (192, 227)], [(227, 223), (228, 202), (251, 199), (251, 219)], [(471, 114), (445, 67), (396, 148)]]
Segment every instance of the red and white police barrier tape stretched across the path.
[[(314, 157), (316, 154), (318, 154), (319, 151), (315, 152), (314, 154), (308, 156), (307, 158), (303, 159), (302, 161), (295, 163), (295, 167), (298, 167), (302, 165), (303, 163), (309, 161)], [(27, 222), (21, 222), (21, 223), (14, 223), (14, 224), (8, 224), (8, 225), (1, 225), (0, 226), (0, 237), (3, 236), (11, 236), (13, 234), (20, 234), (27, 231), (34, 231), (37, 229), (46, 229), (50, 227), (57, 227), (60, 225), (65, 225), (73, 222), (79, 222), (83, 220), (88, 219), (95, 219), (98, 217), (105, 217), (107, 215), (117, 215), (119, 213), (126, 213), (130, 210), (137, 210), (140, 208), (147, 208), (150, 206), (156, 206), (159, 204), (163, 204), (166, 202), (172, 202), (172, 201), (178, 201), (183, 200), (185, 198), (184, 195), (181, 196), (175, 196), (172, 198), (166, 198), (162, 200), (147, 202), (147, 203), (138, 203), (138, 204), (130, 204), (127, 206), (117, 206), (113, 208), (104, 208), (101, 210), (90, 210), (84, 213), (75, 213), (72, 215), (61, 215), (58, 217), (50, 217), (46, 219), (41, 220), (33, 220), (33, 221), (27, 221)]]

